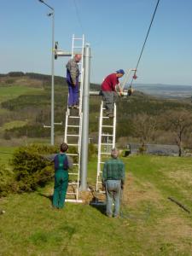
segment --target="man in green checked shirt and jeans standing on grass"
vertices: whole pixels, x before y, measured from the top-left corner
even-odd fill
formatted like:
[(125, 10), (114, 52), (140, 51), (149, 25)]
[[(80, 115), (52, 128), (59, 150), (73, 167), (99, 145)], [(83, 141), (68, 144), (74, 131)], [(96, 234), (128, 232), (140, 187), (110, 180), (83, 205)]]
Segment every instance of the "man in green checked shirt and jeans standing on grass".
[[(107, 194), (107, 209), (108, 217), (119, 217), (120, 209), (120, 195), (121, 190), (124, 189), (125, 183), (125, 164), (119, 160), (119, 150), (113, 148), (111, 151), (111, 159), (104, 164), (102, 171), (102, 183), (106, 189)], [(114, 212), (113, 212), (114, 202)]]

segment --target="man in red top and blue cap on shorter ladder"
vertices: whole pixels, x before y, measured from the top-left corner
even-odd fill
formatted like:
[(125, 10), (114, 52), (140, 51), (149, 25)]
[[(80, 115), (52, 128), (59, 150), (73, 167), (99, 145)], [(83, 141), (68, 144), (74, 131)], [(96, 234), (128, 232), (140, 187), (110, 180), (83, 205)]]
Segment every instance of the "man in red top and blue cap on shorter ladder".
[(107, 109), (107, 116), (113, 118), (113, 106), (117, 97), (117, 90), (121, 93), (119, 86), (119, 78), (125, 74), (123, 69), (119, 69), (116, 73), (111, 73), (102, 82), (102, 100), (104, 108)]

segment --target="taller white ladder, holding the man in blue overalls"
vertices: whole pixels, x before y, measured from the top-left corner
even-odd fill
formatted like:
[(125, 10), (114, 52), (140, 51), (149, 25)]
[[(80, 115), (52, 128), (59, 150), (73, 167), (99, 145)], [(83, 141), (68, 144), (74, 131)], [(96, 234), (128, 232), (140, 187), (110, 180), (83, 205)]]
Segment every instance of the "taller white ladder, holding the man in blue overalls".
[(69, 109), (67, 104), (66, 123), (64, 142), (68, 144), (69, 148), (73, 147), (73, 153), (67, 153), (73, 158), (73, 170), (69, 171), (69, 183), (67, 189), (66, 201), (81, 202), (79, 200), (79, 175), (80, 175), (80, 154), (81, 154), (81, 135), (82, 135), (82, 97), (83, 97), (83, 82), (84, 82), (84, 35), (82, 38), (75, 38), (72, 40), (72, 58), (74, 55), (82, 55), (79, 62), (79, 108)]

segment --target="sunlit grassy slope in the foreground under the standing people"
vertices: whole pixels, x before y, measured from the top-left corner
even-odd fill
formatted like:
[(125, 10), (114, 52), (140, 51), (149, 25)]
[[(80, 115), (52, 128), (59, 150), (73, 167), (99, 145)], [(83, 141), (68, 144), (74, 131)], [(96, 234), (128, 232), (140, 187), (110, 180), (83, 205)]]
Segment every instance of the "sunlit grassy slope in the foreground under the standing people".
[[(52, 184), (32, 194), (0, 200), (0, 255), (192, 255), (192, 160), (132, 156), (124, 159), (126, 185), (121, 218), (103, 207), (67, 203), (51, 208)], [(89, 164), (94, 185), (96, 160)]]

